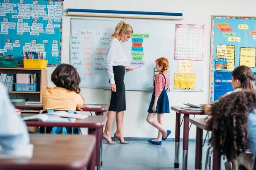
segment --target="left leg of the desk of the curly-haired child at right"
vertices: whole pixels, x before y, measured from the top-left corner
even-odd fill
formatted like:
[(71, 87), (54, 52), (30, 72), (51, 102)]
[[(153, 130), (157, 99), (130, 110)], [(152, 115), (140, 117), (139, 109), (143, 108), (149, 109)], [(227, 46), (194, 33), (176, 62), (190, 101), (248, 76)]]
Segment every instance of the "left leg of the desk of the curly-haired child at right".
[(203, 129), (196, 128), (195, 143), (195, 170), (202, 169), (202, 145), (203, 145)]

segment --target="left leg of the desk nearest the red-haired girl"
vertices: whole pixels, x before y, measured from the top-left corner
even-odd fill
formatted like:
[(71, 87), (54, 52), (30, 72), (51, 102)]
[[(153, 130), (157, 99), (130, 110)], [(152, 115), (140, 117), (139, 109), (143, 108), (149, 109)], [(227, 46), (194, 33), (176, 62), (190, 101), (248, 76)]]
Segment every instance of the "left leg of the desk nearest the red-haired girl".
[(174, 167), (180, 167), (180, 113), (176, 113)]

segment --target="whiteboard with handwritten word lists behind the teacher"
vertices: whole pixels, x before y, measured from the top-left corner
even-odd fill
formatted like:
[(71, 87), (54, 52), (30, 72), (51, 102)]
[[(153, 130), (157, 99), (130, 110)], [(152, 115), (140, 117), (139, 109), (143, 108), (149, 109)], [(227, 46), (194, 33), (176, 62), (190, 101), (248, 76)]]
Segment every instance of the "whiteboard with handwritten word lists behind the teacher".
[[(81, 78), (81, 88), (109, 88), (105, 68), (108, 38), (111, 37), (117, 23), (121, 20), (71, 19), (70, 64)], [(174, 59), (175, 23), (145, 22), (137, 19), (125, 20), (134, 30), (134, 34), (149, 34), (143, 39), (143, 61), (145, 65), (125, 73), (125, 89), (151, 91), (153, 89), (155, 60), (165, 57), (169, 60), (170, 91), (203, 91), (203, 61), (193, 61), (193, 73), (196, 75), (195, 90), (174, 89), (174, 73), (178, 72), (178, 60)], [(131, 38), (121, 46), (130, 66)], [(131, 66), (135, 68), (137, 66)]]

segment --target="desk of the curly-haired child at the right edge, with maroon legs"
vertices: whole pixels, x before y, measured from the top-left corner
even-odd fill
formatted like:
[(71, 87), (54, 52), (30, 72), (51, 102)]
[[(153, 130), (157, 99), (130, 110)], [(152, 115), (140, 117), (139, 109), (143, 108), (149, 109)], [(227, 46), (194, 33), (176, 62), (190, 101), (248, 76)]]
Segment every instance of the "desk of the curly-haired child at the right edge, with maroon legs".
[[(196, 125), (196, 145), (195, 145), (195, 169), (202, 169), (202, 144), (203, 129), (210, 130), (206, 127), (209, 119), (189, 119), (189, 122)], [(221, 152), (213, 145), (213, 170), (221, 170)]]

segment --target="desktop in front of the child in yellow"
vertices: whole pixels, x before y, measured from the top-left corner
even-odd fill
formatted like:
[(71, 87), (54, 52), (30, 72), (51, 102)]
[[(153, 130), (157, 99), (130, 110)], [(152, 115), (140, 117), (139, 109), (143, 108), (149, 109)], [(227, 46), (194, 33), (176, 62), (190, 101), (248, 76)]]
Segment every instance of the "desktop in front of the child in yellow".
[[(17, 109), (21, 110), (37, 110), (42, 111), (43, 106), (25, 106), (25, 102), (12, 102), (12, 104)], [(109, 105), (105, 104), (84, 104), (84, 105), (100, 105), (99, 108), (81, 108), (83, 111), (93, 111), (93, 112), (105, 112), (108, 111)]]

